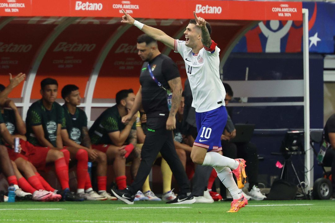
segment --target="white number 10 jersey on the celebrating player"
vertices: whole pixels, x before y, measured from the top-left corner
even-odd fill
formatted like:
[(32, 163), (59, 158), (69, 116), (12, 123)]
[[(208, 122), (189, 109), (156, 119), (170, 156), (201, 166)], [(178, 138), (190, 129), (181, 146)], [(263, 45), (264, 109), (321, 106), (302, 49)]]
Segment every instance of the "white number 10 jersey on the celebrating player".
[[(185, 61), (185, 68), (192, 90), (192, 107), (196, 112), (206, 112), (225, 105), (226, 91), (220, 80), (220, 48), (210, 52), (201, 48), (198, 54), (185, 45), (185, 41), (175, 40), (175, 52)], [(221, 103), (220, 103), (221, 102)]]

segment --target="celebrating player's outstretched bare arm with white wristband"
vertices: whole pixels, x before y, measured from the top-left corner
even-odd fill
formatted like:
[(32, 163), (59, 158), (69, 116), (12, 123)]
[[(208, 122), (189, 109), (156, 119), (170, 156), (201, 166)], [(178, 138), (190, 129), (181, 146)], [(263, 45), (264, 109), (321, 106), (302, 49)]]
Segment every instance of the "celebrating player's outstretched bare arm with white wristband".
[(135, 20), (133, 17), (131, 17), (129, 14), (127, 14), (123, 9), (122, 12), (125, 14), (122, 16), (122, 23), (135, 25), (137, 28), (141, 29), (145, 34), (148, 36), (151, 36), (155, 40), (164, 43), (166, 46), (170, 47), (171, 49), (175, 48), (175, 39), (171, 36), (167, 35), (165, 32), (163, 32), (160, 29), (153, 28), (151, 26), (147, 26), (137, 20)]

